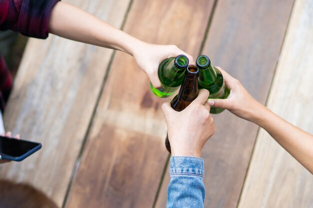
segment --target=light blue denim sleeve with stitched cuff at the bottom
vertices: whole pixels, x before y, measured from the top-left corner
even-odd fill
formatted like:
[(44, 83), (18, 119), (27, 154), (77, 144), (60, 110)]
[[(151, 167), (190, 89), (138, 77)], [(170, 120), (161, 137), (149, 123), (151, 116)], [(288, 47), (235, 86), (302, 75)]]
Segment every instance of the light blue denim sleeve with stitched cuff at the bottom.
[(205, 189), (201, 158), (170, 158), (166, 208), (203, 208)]

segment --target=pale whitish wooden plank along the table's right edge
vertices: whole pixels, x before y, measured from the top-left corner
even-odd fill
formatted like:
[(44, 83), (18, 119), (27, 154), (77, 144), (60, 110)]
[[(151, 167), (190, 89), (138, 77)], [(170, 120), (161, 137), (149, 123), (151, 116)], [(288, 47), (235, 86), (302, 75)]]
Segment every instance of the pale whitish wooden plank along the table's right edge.
[[(267, 107), (313, 134), (313, 0), (296, 0)], [(312, 208), (313, 176), (260, 130), (238, 208)]]

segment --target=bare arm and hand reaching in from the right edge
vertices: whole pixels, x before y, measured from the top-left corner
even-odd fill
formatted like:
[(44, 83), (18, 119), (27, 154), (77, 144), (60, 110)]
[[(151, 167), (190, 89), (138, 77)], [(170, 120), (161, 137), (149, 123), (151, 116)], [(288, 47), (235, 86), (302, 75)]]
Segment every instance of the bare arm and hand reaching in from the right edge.
[(224, 76), (225, 84), (231, 91), (227, 99), (212, 99), (208, 101), (209, 104), (228, 109), (236, 116), (265, 129), (281, 147), (313, 174), (313, 136), (286, 122), (258, 103), (238, 80), (224, 70), (220, 70)]

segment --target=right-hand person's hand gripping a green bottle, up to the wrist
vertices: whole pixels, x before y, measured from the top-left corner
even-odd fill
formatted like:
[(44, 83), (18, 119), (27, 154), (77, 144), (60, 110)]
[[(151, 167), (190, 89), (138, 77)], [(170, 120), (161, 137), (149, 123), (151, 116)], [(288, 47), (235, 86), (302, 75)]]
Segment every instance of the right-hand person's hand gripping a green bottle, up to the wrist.
[(255, 119), (259, 117), (258, 114), (265, 107), (258, 103), (237, 79), (220, 67), (216, 68), (222, 73), (225, 85), (230, 89), (230, 94), (226, 99), (208, 99), (208, 104), (211, 107), (227, 109), (234, 115), (255, 123)]

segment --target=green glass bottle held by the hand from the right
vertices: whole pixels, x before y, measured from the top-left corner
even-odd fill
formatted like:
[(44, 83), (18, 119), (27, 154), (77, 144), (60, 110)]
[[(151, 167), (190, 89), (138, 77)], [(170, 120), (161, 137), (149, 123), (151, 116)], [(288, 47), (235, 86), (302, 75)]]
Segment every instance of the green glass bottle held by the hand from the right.
[[(207, 89), (210, 92), (208, 98), (225, 99), (229, 90), (225, 86), (224, 78), (220, 71), (211, 65), (206, 55), (200, 55), (196, 59), (196, 66), (199, 68), (198, 88)], [(224, 109), (211, 107), (210, 113), (221, 113)]]

